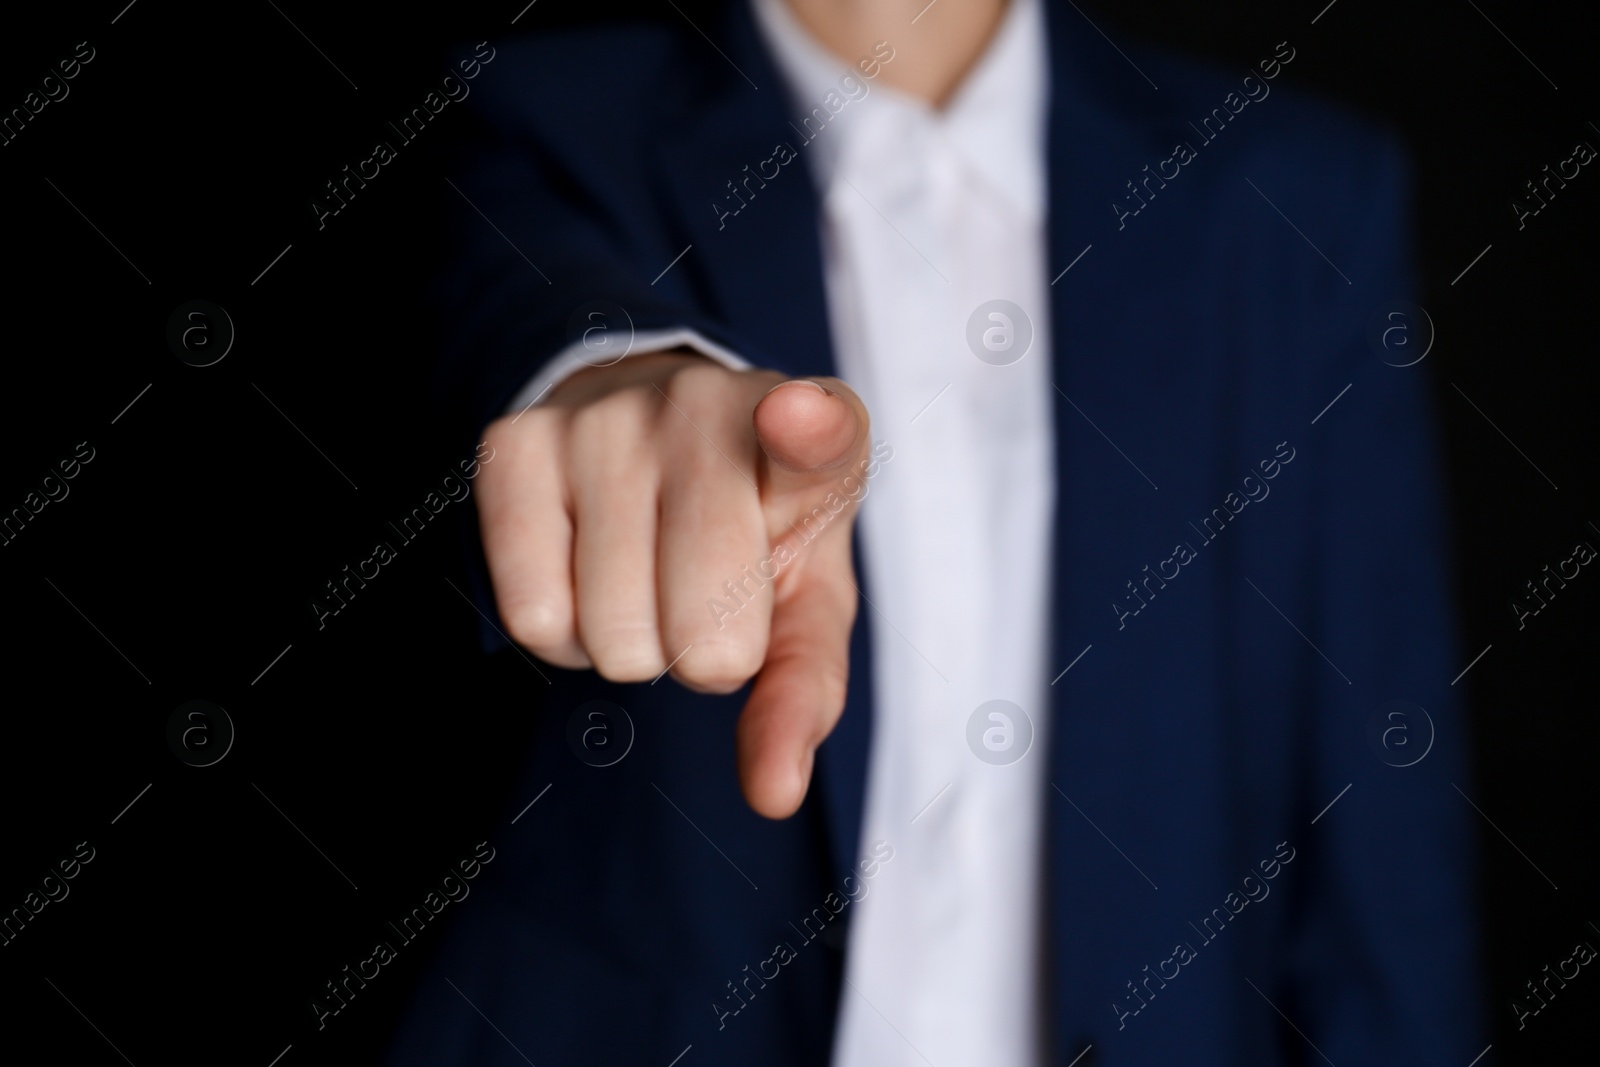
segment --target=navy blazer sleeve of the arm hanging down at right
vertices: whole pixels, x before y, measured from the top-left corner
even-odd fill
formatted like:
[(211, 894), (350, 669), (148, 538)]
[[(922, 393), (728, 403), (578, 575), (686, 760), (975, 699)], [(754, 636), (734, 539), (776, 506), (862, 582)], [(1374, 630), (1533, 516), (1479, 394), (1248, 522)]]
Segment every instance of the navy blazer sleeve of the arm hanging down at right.
[(1309, 581), (1320, 606), (1307, 632), (1349, 678), (1307, 686), (1309, 813), (1349, 790), (1307, 837), (1285, 976), (1294, 1008), (1280, 1006), (1333, 1062), (1459, 1067), (1483, 1051), (1478, 816), (1466, 801), (1474, 790), (1464, 683), (1453, 683), (1466, 659), (1434, 368), (1390, 365), (1422, 354), (1429, 326), (1414, 315), (1382, 320), (1410, 331), (1416, 347), (1406, 357), (1398, 358), (1402, 334), (1390, 334), (1387, 362), (1373, 347), (1374, 318), (1394, 301), (1416, 299), (1410, 181), (1389, 141), (1358, 158), (1366, 165), (1349, 195), (1360, 210), (1341, 253), (1350, 285), (1333, 280), (1330, 290), (1346, 291), (1314, 301), (1304, 317), (1314, 328), (1341, 323), (1328, 376), (1310, 387), (1317, 403), (1350, 384), (1306, 446), (1317, 472)]

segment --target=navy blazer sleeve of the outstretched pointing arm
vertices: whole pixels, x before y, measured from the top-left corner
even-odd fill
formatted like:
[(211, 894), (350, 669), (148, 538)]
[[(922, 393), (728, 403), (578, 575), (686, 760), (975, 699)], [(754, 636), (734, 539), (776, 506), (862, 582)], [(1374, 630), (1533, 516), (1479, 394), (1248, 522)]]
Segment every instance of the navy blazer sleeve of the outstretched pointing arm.
[[(630, 56), (613, 80), (640, 86), (632, 107), (626, 86), (600, 98), (552, 85), (574, 67), (579, 43), (557, 35), (506, 46), (450, 147), (434, 387), (462, 440), (549, 362), (586, 344), (602, 365), (662, 331), (694, 334), (714, 358), (747, 350), (682, 286), (653, 285), (686, 243), (651, 184), (659, 168), (643, 93), (664, 82), (653, 59), (662, 50), (648, 38), (610, 42)], [(605, 102), (550, 106), (586, 96)]]

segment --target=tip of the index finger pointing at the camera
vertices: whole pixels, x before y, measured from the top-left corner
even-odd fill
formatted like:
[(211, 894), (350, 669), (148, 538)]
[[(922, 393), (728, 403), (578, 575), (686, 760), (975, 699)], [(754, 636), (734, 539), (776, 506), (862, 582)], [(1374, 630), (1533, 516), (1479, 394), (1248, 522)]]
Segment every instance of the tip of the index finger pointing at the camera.
[(837, 378), (779, 382), (750, 418), (762, 446), (763, 502), (835, 480), (870, 437), (866, 405)]

